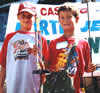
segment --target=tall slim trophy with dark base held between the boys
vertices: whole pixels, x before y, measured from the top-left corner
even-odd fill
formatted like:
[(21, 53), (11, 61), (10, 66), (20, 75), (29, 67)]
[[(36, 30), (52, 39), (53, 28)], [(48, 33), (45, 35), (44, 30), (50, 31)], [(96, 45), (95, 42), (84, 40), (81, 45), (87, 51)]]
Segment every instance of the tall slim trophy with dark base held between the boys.
[(48, 70), (45, 70), (44, 62), (43, 62), (43, 55), (42, 55), (42, 35), (41, 31), (39, 30), (39, 23), (41, 18), (37, 17), (35, 18), (36, 23), (36, 31), (35, 31), (35, 40), (36, 40), (36, 47), (38, 48), (37, 53), (37, 69), (33, 70), (33, 74), (43, 74), (43, 73), (49, 73)]

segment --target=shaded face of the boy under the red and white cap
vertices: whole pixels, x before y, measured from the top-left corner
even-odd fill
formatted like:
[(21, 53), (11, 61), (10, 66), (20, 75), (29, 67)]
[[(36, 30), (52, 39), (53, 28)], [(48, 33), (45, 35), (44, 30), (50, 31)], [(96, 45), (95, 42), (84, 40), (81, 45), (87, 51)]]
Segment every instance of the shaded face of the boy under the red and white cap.
[(28, 12), (22, 12), (18, 15), (21, 24), (21, 29), (25, 31), (31, 30), (33, 25), (33, 15)]

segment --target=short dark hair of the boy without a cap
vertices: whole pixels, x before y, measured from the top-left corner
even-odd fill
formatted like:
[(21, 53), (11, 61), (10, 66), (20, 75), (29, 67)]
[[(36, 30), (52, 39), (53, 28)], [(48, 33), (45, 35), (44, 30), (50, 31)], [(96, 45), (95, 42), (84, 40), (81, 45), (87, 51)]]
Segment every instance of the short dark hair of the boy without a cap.
[(76, 18), (77, 16), (79, 16), (79, 10), (77, 7), (75, 7), (74, 5), (72, 5), (71, 3), (64, 3), (63, 5), (61, 5), (58, 9), (58, 16), (59, 13), (61, 11), (70, 11), (72, 12), (73, 16)]

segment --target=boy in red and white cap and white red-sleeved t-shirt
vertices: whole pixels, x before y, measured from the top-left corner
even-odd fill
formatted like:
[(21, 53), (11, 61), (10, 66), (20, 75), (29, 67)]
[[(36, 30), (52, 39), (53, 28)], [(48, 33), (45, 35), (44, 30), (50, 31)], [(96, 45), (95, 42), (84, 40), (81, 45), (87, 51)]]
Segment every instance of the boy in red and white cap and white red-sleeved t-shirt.
[[(0, 93), (3, 93), (5, 75), (7, 93), (39, 93), (40, 74), (32, 74), (33, 70), (38, 70), (35, 33), (32, 29), (36, 9), (31, 2), (22, 2), (17, 17), (21, 28), (7, 35), (0, 53)], [(42, 49), (46, 61), (48, 49), (43, 37)]]

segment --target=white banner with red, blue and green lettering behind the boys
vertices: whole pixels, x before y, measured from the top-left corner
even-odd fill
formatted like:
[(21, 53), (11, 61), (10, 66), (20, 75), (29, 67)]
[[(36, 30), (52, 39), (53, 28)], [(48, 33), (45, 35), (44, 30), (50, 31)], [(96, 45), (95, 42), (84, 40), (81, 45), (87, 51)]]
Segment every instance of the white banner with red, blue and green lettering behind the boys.
[[(72, 3), (79, 8), (79, 29), (76, 35), (90, 41), (92, 50), (92, 61), (99, 64), (100, 60), (100, 3), (89, 2), (87, 3)], [(57, 10), (60, 5), (47, 5), (47, 4), (34, 4), (37, 10), (38, 17), (41, 18), (40, 30), (47, 40), (58, 38), (63, 34), (58, 21)], [(20, 29), (20, 23), (17, 19), (19, 3), (11, 4), (8, 16), (8, 24), (6, 34)], [(89, 25), (88, 25), (89, 23)], [(89, 26), (89, 27), (88, 27)], [(36, 26), (33, 24), (33, 30)]]

